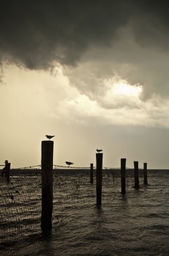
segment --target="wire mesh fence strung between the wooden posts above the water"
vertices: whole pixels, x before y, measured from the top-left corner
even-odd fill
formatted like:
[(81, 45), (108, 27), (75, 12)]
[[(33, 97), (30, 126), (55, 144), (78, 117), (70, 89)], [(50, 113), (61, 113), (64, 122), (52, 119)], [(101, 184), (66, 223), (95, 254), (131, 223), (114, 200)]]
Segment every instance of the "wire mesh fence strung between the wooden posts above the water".
[[(126, 173), (128, 185), (132, 185), (133, 170)], [(142, 176), (142, 172), (140, 174)], [(41, 183), (40, 169), (11, 170), (10, 183), (0, 177), (0, 250), (3, 253), (12, 255), (9, 248), (23, 247), (21, 241), (26, 243), (30, 236), (41, 234)], [(120, 171), (103, 170), (103, 186), (112, 189), (113, 183), (120, 186)], [(82, 195), (84, 186), (91, 189), (95, 202), (95, 186), (91, 187), (89, 168), (54, 169), (53, 226), (59, 226), (63, 220), (70, 221), (70, 207), (89, 203), (86, 195)]]

